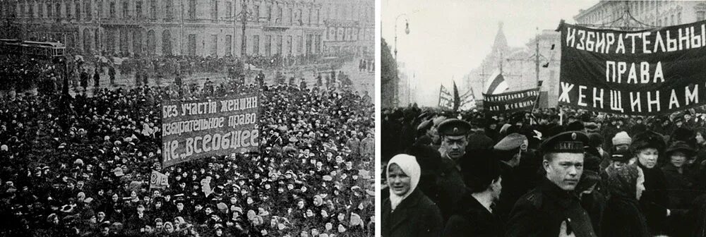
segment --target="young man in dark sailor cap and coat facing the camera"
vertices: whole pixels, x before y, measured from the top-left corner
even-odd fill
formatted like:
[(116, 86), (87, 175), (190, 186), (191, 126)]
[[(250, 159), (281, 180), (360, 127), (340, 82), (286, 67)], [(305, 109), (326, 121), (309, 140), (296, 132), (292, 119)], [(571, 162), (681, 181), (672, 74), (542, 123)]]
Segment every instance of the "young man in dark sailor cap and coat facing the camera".
[(570, 131), (540, 145), (546, 176), (537, 188), (517, 200), (506, 236), (596, 236), (590, 217), (574, 193), (588, 141), (585, 133)]

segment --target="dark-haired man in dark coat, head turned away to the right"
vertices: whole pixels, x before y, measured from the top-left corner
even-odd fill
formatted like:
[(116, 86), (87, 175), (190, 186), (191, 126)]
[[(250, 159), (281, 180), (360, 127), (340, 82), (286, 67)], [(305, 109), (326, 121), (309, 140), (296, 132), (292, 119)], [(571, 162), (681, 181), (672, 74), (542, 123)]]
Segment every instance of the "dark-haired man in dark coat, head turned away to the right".
[(484, 154), (462, 163), (468, 190), (446, 223), (443, 236), (503, 236), (503, 222), (491, 207), (503, 189), (499, 162)]

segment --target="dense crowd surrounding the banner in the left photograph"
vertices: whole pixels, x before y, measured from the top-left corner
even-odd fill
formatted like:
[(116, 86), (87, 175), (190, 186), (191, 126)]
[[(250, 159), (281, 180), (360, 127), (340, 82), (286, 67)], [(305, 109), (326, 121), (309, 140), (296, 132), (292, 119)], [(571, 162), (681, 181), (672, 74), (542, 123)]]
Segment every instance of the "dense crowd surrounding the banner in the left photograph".
[[(258, 152), (160, 166), (160, 102), (251, 92)], [(0, 236), (374, 234), (369, 97), (228, 82), (59, 96), (0, 101)]]

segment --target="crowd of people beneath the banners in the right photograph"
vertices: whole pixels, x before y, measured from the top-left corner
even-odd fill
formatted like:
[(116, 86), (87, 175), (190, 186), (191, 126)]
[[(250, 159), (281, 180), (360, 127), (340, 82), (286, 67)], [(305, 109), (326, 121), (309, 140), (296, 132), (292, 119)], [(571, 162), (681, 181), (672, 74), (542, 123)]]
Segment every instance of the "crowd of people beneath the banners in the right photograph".
[(383, 109), (383, 236), (706, 236), (706, 113)]

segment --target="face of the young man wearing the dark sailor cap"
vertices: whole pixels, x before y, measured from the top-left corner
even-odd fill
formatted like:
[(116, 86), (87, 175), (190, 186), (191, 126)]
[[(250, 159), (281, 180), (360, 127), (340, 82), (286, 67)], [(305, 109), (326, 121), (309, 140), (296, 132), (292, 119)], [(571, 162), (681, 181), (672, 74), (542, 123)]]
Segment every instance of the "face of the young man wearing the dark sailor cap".
[(544, 160), (546, 178), (563, 190), (574, 190), (583, 173), (582, 153), (551, 153)]

